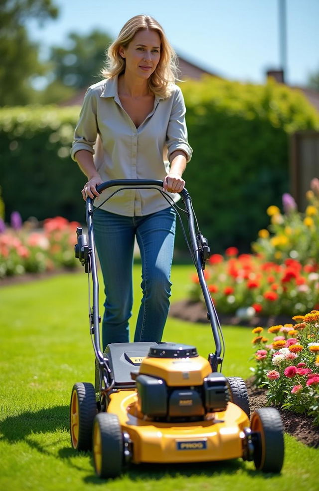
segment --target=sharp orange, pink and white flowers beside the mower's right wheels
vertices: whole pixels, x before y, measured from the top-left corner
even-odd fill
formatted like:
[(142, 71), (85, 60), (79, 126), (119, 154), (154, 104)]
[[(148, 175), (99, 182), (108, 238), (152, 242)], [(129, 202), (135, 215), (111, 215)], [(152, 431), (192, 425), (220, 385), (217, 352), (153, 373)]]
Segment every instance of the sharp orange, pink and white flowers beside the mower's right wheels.
[(253, 329), (254, 384), (268, 389), (268, 404), (311, 416), (319, 425), (319, 311), (293, 320), (270, 327), (271, 340), (262, 327)]

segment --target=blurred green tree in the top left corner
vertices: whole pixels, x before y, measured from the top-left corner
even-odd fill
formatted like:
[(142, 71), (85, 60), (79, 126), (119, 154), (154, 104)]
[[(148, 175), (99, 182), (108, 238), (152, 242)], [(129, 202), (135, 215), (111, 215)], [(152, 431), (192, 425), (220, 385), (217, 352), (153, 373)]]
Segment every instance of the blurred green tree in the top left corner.
[(30, 79), (43, 74), (38, 45), (30, 41), (24, 23), (41, 24), (56, 18), (52, 0), (0, 0), (0, 105), (27, 104), (32, 100)]

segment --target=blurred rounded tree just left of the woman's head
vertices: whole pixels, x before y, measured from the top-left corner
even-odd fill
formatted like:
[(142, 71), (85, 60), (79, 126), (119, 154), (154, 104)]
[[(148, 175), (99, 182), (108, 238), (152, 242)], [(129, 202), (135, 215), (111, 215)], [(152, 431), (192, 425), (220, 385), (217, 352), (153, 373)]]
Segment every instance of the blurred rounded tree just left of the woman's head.
[(108, 34), (93, 30), (86, 36), (71, 32), (69, 47), (53, 46), (50, 54), (53, 81), (44, 90), (42, 102), (60, 102), (70, 97), (72, 91), (100, 80), (105, 50), (111, 42)]

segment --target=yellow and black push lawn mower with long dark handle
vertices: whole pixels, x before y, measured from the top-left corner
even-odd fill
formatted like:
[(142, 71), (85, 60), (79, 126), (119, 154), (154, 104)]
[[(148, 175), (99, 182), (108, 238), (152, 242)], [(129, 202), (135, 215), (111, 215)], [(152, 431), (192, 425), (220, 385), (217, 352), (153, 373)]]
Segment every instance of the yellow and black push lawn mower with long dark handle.
[[(243, 379), (221, 373), (224, 340), (205, 282), (210, 249), (198, 229), (189, 193), (184, 209), (172, 203), (159, 180), (113, 180), (105, 201), (125, 189), (157, 189), (187, 216), (182, 231), (198, 273), (215, 351), (208, 359), (192, 345), (172, 342), (114, 343), (100, 347), (99, 283), (92, 222), (94, 198), (86, 201), (87, 234), (77, 228), (75, 255), (89, 275), (89, 326), (95, 353), (95, 385), (76, 383), (70, 403), (73, 449), (93, 451), (96, 474), (114, 478), (132, 464), (198, 463), (242, 458), (257, 470), (279, 473), (284, 460), (283, 426), (275, 408), (250, 419)], [(104, 201), (104, 203), (105, 203)], [(101, 205), (100, 205), (101, 206)], [(196, 223), (196, 229), (195, 229)], [(92, 283), (92, 293), (90, 284)], [(92, 300), (91, 300), (92, 297)]]

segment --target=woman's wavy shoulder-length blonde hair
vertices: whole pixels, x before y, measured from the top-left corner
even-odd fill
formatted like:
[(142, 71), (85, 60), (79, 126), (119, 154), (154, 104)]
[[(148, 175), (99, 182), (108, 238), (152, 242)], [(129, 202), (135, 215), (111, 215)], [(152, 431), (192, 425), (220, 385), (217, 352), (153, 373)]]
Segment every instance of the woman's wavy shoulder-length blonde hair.
[(142, 29), (154, 30), (160, 36), (160, 61), (148, 79), (149, 89), (155, 95), (168, 97), (171, 93), (171, 84), (178, 80), (177, 56), (169, 44), (163, 28), (150, 15), (136, 15), (124, 24), (117, 39), (107, 50), (106, 63), (101, 75), (104, 78), (114, 78), (124, 73), (125, 59), (119, 53), (120, 46), (126, 48), (135, 34)]

